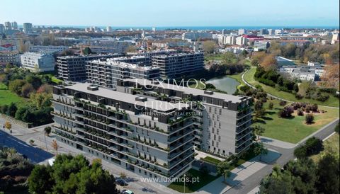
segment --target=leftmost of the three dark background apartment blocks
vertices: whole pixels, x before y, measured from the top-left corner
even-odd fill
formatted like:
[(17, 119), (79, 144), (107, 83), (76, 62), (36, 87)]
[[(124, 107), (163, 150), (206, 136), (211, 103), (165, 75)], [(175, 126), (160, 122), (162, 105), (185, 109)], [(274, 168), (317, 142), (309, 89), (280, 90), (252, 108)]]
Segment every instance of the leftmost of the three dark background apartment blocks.
[(64, 81), (85, 81), (86, 62), (94, 59), (121, 57), (122, 55), (81, 55), (57, 57), (58, 77)]

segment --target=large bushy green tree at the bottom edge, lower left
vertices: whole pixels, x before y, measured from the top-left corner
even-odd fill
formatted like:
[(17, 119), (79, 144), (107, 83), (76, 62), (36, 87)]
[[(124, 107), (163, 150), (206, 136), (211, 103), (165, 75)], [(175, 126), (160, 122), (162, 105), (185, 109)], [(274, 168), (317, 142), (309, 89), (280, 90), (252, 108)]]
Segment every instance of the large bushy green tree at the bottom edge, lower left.
[(101, 163), (82, 155), (57, 155), (53, 166), (36, 165), (28, 178), (30, 193), (118, 193), (115, 178)]

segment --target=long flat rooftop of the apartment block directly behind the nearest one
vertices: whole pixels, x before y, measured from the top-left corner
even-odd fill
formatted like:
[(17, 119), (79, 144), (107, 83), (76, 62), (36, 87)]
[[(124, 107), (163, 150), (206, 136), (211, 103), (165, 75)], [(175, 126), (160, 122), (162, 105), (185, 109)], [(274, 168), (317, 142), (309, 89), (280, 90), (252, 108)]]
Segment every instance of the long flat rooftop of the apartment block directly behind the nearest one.
[(186, 94), (193, 94), (195, 96), (207, 96), (210, 98), (219, 98), (224, 101), (232, 101), (232, 103), (241, 103), (244, 101), (244, 99), (249, 98), (246, 96), (233, 96), (229, 95), (226, 93), (219, 93), (219, 92), (213, 92), (212, 94), (208, 94), (207, 91), (205, 90), (200, 90), (200, 89), (193, 89), (193, 88), (188, 88), (185, 86), (177, 86), (174, 84), (167, 84), (167, 83), (162, 83), (162, 84), (154, 84), (153, 81), (148, 80), (148, 79), (125, 79), (126, 81), (132, 81), (135, 83), (138, 83), (142, 86), (149, 85), (149, 86), (157, 86), (163, 89), (174, 89), (176, 91), (182, 91), (183, 93)]

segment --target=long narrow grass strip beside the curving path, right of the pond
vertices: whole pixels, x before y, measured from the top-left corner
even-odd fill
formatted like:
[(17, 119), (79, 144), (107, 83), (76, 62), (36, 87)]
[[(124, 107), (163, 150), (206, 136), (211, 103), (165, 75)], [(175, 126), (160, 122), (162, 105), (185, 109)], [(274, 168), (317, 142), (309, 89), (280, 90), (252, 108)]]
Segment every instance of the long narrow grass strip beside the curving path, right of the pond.
[(336, 98), (333, 95), (329, 95), (329, 99), (325, 102), (316, 101), (316, 100), (307, 99), (307, 98), (302, 98), (298, 100), (295, 98), (295, 95), (293, 93), (289, 93), (285, 91), (278, 91), (271, 86), (266, 86), (265, 84), (259, 83), (259, 81), (256, 81), (254, 79), (255, 72), (256, 72), (256, 67), (251, 67), (251, 69), (249, 69), (249, 71), (246, 72), (246, 74), (244, 74), (244, 80), (253, 86), (255, 85), (262, 86), (264, 91), (266, 91), (267, 93), (271, 93), (273, 96), (278, 96), (287, 101), (313, 103), (313, 104), (317, 103), (318, 105), (328, 105), (328, 106), (333, 106), (333, 107), (339, 107), (339, 98)]

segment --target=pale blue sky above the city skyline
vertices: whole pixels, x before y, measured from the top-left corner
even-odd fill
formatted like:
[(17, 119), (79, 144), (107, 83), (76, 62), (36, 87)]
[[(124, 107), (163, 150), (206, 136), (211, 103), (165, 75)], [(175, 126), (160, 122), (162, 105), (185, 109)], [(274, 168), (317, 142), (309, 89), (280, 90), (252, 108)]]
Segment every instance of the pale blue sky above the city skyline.
[(1, 0), (0, 23), (339, 26), (339, 0)]

